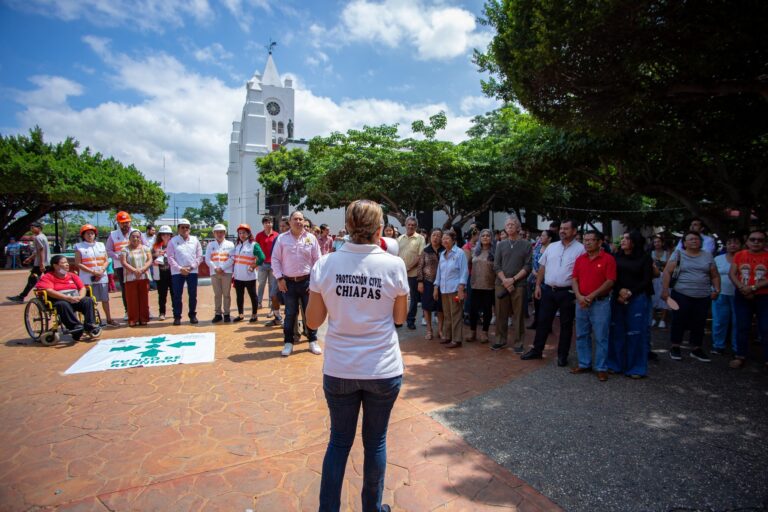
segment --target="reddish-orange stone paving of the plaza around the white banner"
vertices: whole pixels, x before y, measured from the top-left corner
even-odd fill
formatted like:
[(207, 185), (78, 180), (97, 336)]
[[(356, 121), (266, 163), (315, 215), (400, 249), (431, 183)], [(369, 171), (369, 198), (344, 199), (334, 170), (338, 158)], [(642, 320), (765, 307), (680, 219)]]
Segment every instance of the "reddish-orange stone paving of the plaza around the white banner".
[[(0, 297), (24, 280), (0, 273)], [(152, 322), (103, 337), (215, 331), (214, 363), (69, 376), (92, 344), (26, 344), (23, 306), (0, 304), (0, 510), (317, 509), (328, 437), (322, 358), (306, 343), (280, 357), (282, 333), (261, 323), (212, 326), (211, 289), (199, 291), (197, 327)], [(111, 306), (119, 318), (118, 294)], [(558, 510), (426, 414), (544, 363), (476, 343), (448, 351), (421, 328), (400, 336), (406, 378), (385, 485), (393, 509)], [(360, 509), (362, 461), (358, 438), (344, 510)]]

